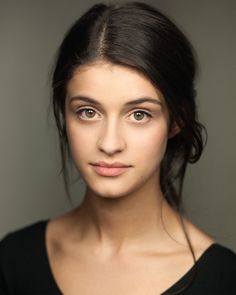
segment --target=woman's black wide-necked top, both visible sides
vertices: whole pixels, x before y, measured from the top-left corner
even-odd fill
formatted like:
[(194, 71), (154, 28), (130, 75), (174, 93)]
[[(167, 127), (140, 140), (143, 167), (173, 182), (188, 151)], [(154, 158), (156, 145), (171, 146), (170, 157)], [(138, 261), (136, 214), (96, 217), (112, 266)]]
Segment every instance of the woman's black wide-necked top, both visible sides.
[[(0, 242), (0, 295), (62, 295), (48, 261), (46, 225), (47, 221), (35, 223), (7, 235)], [(192, 267), (161, 295), (180, 290), (191, 279), (190, 287), (180, 294), (236, 294), (236, 254), (233, 251), (212, 244), (197, 260), (196, 266), (195, 276)]]

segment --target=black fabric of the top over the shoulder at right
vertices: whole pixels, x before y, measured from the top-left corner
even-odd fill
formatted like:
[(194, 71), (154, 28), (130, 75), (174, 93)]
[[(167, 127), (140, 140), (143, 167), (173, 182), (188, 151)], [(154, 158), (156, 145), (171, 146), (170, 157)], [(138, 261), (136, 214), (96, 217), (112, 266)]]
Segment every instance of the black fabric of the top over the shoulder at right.
[(163, 295), (186, 286), (188, 286), (187, 289), (181, 294), (236, 294), (235, 278), (235, 252), (215, 242), (202, 253), (196, 264)]

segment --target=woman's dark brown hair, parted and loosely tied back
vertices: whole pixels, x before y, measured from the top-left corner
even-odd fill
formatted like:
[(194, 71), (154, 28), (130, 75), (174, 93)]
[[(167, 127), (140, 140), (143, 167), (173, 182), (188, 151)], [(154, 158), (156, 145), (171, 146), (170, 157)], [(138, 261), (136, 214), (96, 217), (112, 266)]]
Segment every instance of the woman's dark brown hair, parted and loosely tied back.
[[(191, 45), (167, 17), (144, 3), (97, 4), (86, 12), (61, 44), (52, 82), (64, 169), (68, 82), (76, 70), (100, 60), (142, 73), (162, 93), (169, 128), (177, 126), (179, 132), (168, 140), (160, 182), (169, 204), (179, 209), (186, 165), (197, 161), (203, 148), (202, 126), (196, 118)], [(127, 85), (127, 91), (130, 88), (132, 85)]]

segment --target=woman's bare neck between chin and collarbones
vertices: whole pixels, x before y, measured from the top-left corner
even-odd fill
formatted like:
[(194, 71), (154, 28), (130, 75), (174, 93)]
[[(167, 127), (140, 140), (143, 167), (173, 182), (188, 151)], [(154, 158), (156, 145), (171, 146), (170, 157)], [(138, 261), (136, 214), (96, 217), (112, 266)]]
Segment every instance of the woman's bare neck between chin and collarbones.
[(81, 239), (113, 253), (127, 247), (161, 247), (178, 223), (157, 188), (119, 198), (103, 198), (88, 189), (76, 214)]

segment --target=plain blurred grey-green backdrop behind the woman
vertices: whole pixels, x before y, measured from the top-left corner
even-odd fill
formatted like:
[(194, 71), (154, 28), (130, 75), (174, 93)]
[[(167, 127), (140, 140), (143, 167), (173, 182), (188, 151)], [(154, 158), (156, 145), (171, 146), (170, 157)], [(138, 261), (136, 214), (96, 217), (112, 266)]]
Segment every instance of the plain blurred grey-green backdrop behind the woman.
[[(95, 1), (0, 1), (0, 237), (72, 208), (58, 176), (60, 157), (50, 106), (50, 71), (59, 42)], [(192, 41), (200, 62), (201, 121), (209, 140), (189, 167), (188, 215), (218, 242), (236, 250), (234, 0), (148, 1)], [(73, 188), (75, 203), (82, 184)]]

